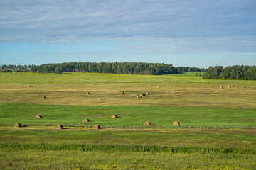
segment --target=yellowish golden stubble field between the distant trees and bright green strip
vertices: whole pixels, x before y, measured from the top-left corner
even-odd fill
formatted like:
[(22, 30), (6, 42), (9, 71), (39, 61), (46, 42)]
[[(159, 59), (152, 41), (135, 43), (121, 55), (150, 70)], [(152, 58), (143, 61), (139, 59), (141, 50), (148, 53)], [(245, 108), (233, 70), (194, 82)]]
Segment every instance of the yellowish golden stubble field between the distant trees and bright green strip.
[[(256, 108), (255, 81), (203, 80), (196, 73), (128, 75), (0, 74), (0, 102), (90, 106), (203, 106)], [(29, 88), (28, 85), (31, 85)], [(156, 86), (160, 86), (157, 88)], [(235, 88), (228, 88), (235, 85)], [(242, 85), (245, 88), (242, 88)], [(220, 89), (223, 86), (224, 89)], [(87, 91), (90, 95), (87, 95)], [(121, 91), (129, 91), (121, 94)], [(132, 91), (132, 92), (131, 92)], [(136, 95), (151, 94), (142, 98)], [(42, 96), (46, 96), (43, 100)], [(100, 97), (101, 100), (97, 100)]]

